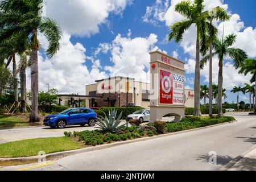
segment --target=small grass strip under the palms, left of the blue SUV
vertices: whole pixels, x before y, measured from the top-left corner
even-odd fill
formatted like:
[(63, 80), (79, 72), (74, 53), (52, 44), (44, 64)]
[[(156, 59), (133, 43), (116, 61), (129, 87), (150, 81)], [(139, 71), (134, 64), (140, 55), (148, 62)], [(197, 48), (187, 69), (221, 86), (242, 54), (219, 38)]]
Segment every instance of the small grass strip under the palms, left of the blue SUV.
[(25, 121), (22, 118), (0, 114), (0, 128), (14, 126), (34, 126), (34, 123)]

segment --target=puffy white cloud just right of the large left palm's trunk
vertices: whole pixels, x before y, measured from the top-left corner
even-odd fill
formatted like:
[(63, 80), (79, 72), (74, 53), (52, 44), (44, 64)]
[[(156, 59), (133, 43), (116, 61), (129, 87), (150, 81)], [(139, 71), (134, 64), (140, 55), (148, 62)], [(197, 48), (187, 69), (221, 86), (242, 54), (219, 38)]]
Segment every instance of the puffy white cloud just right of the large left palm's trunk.
[[(86, 49), (82, 44), (71, 43), (71, 35), (64, 33), (61, 39), (61, 48), (52, 59), (44, 58), (41, 53), (38, 56), (39, 65), (39, 90), (56, 88), (59, 93), (85, 94), (85, 85), (91, 84), (94, 80), (105, 78), (107, 74), (101, 71), (100, 60), (94, 60), (85, 55)], [(39, 36), (40, 40), (44, 37)], [(42, 42), (42, 41), (41, 41)], [(43, 45), (43, 48), (45, 45)], [(92, 67), (86, 67), (88, 61)], [(30, 90), (30, 73), (27, 75), (28, 90)]]

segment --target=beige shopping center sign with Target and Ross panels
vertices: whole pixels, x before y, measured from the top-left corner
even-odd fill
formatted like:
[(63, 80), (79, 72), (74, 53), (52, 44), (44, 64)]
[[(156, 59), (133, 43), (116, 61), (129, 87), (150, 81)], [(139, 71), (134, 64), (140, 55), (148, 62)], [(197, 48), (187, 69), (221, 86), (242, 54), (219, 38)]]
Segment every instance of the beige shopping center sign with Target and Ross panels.
[(184, 62), (162, 52), (150, 53), (151, 121), (172, 113), (175, 120), (184, 117)]

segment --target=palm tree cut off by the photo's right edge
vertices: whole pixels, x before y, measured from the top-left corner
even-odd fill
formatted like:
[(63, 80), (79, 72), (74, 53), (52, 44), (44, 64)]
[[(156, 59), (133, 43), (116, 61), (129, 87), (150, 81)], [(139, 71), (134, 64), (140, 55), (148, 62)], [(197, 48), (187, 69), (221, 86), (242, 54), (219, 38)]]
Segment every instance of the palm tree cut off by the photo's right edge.
[[(244, 73), (245, 75), (250, 73), (251, 75), (253, 75), (251, 77), (250, 82), (251, 83), (255, 82), (255, 89), (254, 89), (254, 95), (255, 95), (255, 91), (256, 91), (256, 60), (255, 59), (245, 60), (245, 63), (242, 65), (239, 73)], [(254, 97), (254, 104), (256, 104), (256, 97)], [(254, 111), (256, 112), (256, 106), (254, 106)]]

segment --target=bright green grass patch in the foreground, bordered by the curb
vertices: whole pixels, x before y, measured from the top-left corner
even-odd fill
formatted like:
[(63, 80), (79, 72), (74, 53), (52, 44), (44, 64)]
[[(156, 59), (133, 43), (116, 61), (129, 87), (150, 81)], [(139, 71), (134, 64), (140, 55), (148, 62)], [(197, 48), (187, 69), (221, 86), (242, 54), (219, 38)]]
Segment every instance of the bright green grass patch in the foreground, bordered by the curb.
[(35, 138), (0, 144), (0, 158), (18, 158), (81, 148), (79, 142), (68, 137)]

